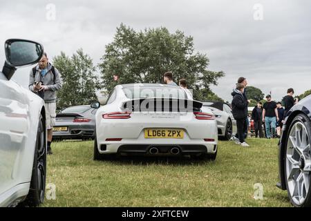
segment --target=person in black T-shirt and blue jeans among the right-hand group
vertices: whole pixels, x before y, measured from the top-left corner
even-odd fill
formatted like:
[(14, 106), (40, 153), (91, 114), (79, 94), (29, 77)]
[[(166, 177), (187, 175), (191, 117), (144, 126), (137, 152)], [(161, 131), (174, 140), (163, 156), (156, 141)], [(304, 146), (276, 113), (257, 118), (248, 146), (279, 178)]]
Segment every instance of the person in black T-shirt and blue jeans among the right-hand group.
[[(279, 121), (279, 113), (276, 108), (276, 102), (272, 102), (271, 96), (267, 95), (265, 98), (267, 98), (267, 102), (263, 104), (263, 122), (265, 122), (267, 138), (270, 139), (275, 134), (276, 121)], [(270, 127), (272, 134), (270, 133)]]

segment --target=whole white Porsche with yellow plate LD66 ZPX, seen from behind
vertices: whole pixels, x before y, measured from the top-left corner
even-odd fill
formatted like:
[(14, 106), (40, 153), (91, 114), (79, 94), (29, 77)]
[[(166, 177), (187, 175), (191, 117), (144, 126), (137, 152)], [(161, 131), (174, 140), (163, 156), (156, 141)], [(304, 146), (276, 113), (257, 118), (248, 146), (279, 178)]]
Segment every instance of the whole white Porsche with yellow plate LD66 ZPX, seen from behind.
[(95, 119), (94, 160), (113, 155), (191, 155), (215, 160), (218, 133), (214, 115), (178, 86), (115, 86)]

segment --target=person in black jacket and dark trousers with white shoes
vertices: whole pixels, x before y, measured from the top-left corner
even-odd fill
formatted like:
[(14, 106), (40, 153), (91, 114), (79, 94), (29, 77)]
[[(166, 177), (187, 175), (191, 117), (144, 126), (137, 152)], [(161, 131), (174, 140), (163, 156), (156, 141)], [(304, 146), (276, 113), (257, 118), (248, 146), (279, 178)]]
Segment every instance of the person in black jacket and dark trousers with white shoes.
[(249, 146), (245, 142), (245, 128), (247, 128), (247, 100), (243, 96), (244, 92), (243, 84), (236, 84), (236, 90), (234, 90), (234, 98), (232, 99), (232, 114), (236, 119), (236, 126), (238, 128), (238, 142), (241, 146)]

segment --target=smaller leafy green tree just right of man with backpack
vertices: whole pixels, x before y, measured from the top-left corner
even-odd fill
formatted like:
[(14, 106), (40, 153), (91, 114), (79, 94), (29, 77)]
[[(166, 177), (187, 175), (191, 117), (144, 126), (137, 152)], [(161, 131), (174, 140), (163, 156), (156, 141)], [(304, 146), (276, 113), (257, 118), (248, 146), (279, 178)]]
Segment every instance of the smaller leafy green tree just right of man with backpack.
[(53, 65), (62, 74), (63, 88), (57, 95), (57, 106), (91, 104), (97, 100), (96, 90), (102, 87), (100, 78), (95, 75), (96, 67), (92, 59), (84, 54), (82, 49), (77, 50), (72, 57), (64, 52), (53, 58)]

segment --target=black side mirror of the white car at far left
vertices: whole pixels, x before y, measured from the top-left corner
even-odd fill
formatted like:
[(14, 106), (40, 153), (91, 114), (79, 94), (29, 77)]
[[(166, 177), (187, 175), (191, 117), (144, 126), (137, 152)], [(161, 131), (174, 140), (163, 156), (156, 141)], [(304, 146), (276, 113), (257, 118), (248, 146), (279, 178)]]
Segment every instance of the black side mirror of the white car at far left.
[(4, 48), (6, 62), (2, 72), (8, 79), (15, 73), (16, 68), (37, 63), (44, 53), (41, 44), (24, 39), (8, 39)]

